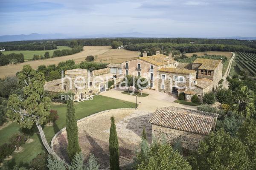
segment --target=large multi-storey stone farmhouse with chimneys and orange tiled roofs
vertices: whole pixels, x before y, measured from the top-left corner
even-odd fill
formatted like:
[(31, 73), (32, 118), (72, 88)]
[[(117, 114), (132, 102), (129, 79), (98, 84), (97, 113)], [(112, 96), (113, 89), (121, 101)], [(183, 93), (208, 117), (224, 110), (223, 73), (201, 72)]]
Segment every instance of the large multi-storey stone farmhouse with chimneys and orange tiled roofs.
[(184, 93), (187, 101), (193, 95), (200, 99), (205, 92), (218, 87), (222, 77), (222, 62), (215, 59), (196, 59), (193, 63), (178, 63), (169, 56), (160, 54), (122, 62), (122, 75), (142, 76), (150, 80), (150, 88), (178, 95)]

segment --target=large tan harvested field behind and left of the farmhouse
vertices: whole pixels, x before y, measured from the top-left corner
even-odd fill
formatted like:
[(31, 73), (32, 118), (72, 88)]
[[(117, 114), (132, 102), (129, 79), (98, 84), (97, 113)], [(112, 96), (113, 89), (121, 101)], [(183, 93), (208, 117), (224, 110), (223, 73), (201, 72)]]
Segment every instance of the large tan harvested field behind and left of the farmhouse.
[(74, 59), (76, 63), (81, 61), (85, 61), (85, 58), (88, 55), (97, 56), (96, 61), (100, 62), (113, 62), (120, 63), (122, 61), (138, 57), (137, 51), (128, 51), (125, 49), (112, 49), (110, 46), (84, 46), (84, 51), (80, 53), (63, 56), (63, 57), (55, 57), (44, 60), (37, 61), (28, 61), (19, 63), (16, 65), (4, 65), (0, 66), (0, 78), (13, 76), (18, 71), (20, 71), (23, 65), (29, 64), (32, 68), (37, 69), (39, 65), (50, 65), (50, 64), (58, 64), (58, 62), (66, 61), (68, 59)]

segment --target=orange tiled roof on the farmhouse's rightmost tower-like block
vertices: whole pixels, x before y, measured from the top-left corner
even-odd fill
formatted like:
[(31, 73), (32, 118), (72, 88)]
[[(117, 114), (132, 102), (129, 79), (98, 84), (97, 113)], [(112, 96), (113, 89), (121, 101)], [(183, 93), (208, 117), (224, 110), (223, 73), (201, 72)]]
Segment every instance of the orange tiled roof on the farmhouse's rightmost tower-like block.
[(218, 64), (221, 62), (221, 60), (217, 59), (202, 59), (202, 58), (197, 58), (193, 63), (198, 63), (202, 64), (199, 69), (204, 69), (204, 70), (214, 70)]

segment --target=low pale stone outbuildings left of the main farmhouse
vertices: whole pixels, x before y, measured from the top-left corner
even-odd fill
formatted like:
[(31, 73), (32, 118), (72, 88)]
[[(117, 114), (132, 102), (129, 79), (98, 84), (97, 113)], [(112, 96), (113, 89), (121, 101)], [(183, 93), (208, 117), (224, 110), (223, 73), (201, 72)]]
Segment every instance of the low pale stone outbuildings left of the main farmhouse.
[(63, 79), (45, 82), (44, 89), (49, 92), (72, 92), (74, 100), (81, 101), (106, 91), (108, 82), (119, 81), (120, 76), (110, 73), (109, 67), (94, 71), (77, 68), (65, 71)]

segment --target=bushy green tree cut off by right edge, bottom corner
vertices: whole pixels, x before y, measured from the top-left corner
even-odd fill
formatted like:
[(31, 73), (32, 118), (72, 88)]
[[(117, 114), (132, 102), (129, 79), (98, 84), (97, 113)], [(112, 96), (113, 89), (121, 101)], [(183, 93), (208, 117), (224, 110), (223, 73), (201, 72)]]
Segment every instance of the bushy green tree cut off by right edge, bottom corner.
[(247, 119), (239, 128), (239, 139), (247, 146), (247, 155), (250, 159), (248, 170), (256, 169), (256, 121)]

